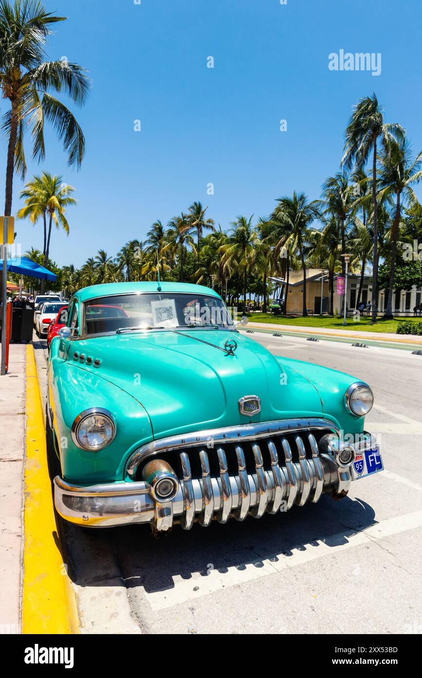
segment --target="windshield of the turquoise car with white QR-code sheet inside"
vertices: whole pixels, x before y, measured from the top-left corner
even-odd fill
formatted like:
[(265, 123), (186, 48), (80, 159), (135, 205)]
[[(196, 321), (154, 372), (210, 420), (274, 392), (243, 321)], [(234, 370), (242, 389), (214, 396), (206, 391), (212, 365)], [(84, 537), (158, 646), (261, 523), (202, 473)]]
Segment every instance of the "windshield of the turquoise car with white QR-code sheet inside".
[(83, 334), (192, 327), (234, 329), (224, 302), (204, 294), (121, 294), (91, 299), (85, 302), (84, 311)]

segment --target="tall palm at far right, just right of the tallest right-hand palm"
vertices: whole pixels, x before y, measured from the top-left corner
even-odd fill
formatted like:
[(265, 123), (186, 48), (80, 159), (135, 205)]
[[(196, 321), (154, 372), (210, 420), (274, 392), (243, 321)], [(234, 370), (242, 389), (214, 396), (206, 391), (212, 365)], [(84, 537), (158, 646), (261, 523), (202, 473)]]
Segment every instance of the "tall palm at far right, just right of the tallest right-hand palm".
[(422, 152), (414, 161), (411, 159), (411, 148), (408, 141), (392, 142), (388, 150), (379, 157), (379, 186), (377, 197), (379, 203), (394, 201), (394, 216), (390, 233), (391, 266), (389, 271), (389, 286), (385, 319), (392, 319), (392, 302), (394, 287), (394, 269), (396, 266), (396, 252), (399, 235), (402, 203), (406, 200), (410, 208), (418, 205), (418, 199), (411, 187), (422, 178)]

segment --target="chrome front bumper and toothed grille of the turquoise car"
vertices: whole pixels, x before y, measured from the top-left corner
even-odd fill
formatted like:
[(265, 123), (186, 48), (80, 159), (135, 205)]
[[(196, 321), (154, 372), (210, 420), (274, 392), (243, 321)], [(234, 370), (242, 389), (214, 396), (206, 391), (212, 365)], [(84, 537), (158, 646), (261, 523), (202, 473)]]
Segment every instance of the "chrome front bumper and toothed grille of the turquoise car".
[[(178, 492), (172, 500), (155, 500), (145, 481), (86, 486), (66, 483), (57, 476), (54, 479), (56, 509), (64, 519), (84, 527), (150, 523), (161, 532), (169, 530), (174, 523), (189, 530), (194, 521), (207, 527), (212, 520), (226, 523), (230, 517), (239, 521), (248, 515), (260, 518), (265, 513), (287, 511), (293, 504), (303, 506), (308, 501), (317, 502), (323, 492), (339, 498), (347, 494), (354, 480), (351, 466), (339, 465), (335, 450), (329, 447), (327, 451), (322, 441), (318, 449), (312, 433), (329, 426), (335, 431), (329, 420), (251, 424), (243, 427), (241, 434), (236, 433), (238, 443), (234, 443), (234, 428), (213, 431), (211, 437), (210, 432), (205, 431), (184, 439), (163, 439), (137, 451), (129, 460), (128, 468), (134, 468), (133, 459), (136, 465), (142, 456), (150, 458), (160, 454), (165, 458), (166, 451), (176, 448), (182, 473)], [(295, 460), (287, 440), (288, 435), (292, 439), (292, 434), (297, 446)], [(210, 439), (212, 450), (202, 444)], [(229, 472), (223, 441), (236, 445), (235, 471), (232, 468)], [(247, 471), (245, 445), (251, 446), (255, 473)], [(353, 445), (356, 454), (372, 446), (369, 434)], [(192, 478), (188, 452), (198, 454), (201, 477)], [(215, 477), (210, 471), (211, 455), (218, 462), (219, 473)], [(264, 460), (270, 461), (267, 468)]]

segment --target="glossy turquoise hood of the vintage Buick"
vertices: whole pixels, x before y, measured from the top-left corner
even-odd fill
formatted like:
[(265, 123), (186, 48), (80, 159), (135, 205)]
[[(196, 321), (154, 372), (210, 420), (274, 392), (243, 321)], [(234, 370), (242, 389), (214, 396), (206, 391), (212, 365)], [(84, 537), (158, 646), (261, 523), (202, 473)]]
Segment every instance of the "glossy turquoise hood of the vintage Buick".
[[(233, 339), (234, 355), (219, 350)], [(101, 361), (100, 367), (83, 369), (95, 370), (142, 404), (155, 438), (322, 414), (320, 395), (308, 378), (238, 332), (116, 334), (79, 340), (77, 350)], [(240, 414), (238, 400), (245, 395), (261, 398), (259, 414)]]

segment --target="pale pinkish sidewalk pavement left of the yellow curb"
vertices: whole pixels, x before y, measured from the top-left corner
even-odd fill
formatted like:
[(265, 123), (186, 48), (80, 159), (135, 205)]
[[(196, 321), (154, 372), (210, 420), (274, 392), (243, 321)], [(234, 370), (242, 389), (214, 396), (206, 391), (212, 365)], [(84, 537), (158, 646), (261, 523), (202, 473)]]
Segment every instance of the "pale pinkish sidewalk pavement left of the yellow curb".
[(26, 344), (10, 344), (9, 374), (0, 376), (0, 633), (18, 633), (25, 450)]

